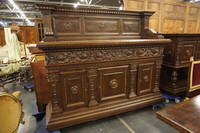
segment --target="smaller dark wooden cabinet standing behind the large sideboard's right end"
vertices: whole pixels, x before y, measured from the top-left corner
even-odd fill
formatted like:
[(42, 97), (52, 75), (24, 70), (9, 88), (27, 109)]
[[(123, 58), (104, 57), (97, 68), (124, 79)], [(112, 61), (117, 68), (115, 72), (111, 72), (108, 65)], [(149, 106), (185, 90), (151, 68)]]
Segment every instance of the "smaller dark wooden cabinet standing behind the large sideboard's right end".
[(200, 34), (163, 35), (172, 42), (164, 49), (160, 88), (173, 96), (185, 96), (190, 57), (200, 60)]

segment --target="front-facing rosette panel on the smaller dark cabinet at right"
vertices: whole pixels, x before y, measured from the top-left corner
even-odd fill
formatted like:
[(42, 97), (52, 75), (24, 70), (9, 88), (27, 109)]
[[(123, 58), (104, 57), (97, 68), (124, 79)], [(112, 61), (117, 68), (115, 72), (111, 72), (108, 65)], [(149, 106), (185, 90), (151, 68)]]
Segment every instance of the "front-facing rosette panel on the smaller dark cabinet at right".
[(183, 44), (181, 49), (181, 63), (190, 62), (190, 57), (193, 56), (195, 42)]

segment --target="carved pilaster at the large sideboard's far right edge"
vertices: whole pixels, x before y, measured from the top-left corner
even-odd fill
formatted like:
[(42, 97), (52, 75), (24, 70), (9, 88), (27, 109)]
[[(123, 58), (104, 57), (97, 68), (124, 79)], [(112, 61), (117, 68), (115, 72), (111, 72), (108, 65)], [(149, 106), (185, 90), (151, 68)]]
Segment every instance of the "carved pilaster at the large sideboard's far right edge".
[(158, 60), (156, 61), (156, 78), (155, 78), (155, 88), (153, 92), (159, 91), (159, 81), (160, 81), (160, 69), (161, 69), (162, 61)]

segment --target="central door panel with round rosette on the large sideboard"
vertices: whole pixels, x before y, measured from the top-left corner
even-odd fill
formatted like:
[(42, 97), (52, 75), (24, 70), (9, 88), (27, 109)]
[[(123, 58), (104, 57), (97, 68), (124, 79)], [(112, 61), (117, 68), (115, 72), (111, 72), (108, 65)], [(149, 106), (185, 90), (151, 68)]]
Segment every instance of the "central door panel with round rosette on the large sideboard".
[(127, 97), (128, 66), (99, 68), (99, 101)]

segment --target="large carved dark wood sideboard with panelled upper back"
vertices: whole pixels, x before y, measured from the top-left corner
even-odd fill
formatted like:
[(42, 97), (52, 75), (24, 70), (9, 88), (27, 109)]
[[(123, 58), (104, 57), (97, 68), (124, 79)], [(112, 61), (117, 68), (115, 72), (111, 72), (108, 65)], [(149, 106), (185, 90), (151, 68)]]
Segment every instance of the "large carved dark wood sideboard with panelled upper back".
[(169, 39), (148, 29), (153, 12), (38, 5), (51, 91), (47, 130), (164, 101), (158, 88)]

